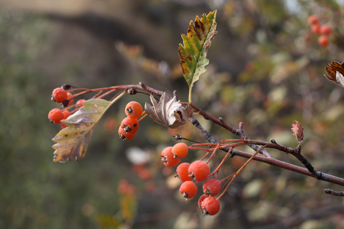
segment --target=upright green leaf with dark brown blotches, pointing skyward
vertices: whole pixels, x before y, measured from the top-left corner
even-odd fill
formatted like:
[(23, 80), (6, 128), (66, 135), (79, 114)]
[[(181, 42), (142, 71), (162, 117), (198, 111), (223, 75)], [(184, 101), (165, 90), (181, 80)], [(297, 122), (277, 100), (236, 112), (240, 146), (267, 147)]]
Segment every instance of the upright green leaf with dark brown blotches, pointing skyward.
[(195, 24), (190, 22), (187, 35), (182, 34), (184, 46), (179, 44), (180, 65), (190, 89), (200, 75), (205, 72), (204, 66), (209, 63), (206, 58), (207, 50), (217, 33), (215, 17), (216, 10), (208, 15), (203, 14), (201, 19), (197, 16)]

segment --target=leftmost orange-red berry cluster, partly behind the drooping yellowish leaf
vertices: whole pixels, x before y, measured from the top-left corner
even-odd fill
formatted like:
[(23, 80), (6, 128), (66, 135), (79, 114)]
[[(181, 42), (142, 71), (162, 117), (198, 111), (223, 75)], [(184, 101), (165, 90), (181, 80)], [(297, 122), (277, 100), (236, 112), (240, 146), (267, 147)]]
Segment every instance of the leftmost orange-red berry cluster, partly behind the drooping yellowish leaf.
[[(74, 97), (71, 92), (65, 91), (65, 85), (62, 87), (55, 88), (52, 92), (51, 100), (62, 103), (62, 107), (67, 107), (73, 104)], [(76, 105), (78, 107), (82, 107), (83, 102), (85, 102), (85, 99), (80, 99), (76, 102)], [(71, 112), (68, 111), (68, 109), (58, 109), (54, 108), (51, 111), (49, 111), (48, 118), (50, 120), (50, 123), (59, 124), (61, 123), (61, 120), (68, 118), (71, 115)], [(66, 128), (67, 126), (64, 123), (61, 123), (61, 127)]]

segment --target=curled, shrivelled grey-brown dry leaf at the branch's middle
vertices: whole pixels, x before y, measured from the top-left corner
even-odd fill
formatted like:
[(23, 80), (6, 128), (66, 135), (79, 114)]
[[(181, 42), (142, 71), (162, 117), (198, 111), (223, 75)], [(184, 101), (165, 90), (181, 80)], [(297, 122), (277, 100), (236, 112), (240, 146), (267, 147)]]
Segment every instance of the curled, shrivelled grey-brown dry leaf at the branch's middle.
[[(186, 118), (190, 117), (193, 113), (192, 107), (187, 105), (184, 108), (180, 100), (177, 101), (174, 96), (173, 99), (169, 100), (166, 92), (160, 97), (159, 103), (151, 95), (150, 99), (153, 103), (152, 106), (146, 102), (144, 105), (144, 111), (148, 114), (155, 122), (161, 125), (169, 127), (171, 129), (176, 129), (186, 123)], [(178, 114), (178, 115), (176, 115)]]

